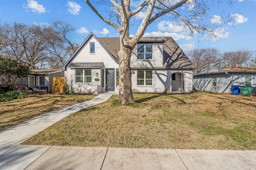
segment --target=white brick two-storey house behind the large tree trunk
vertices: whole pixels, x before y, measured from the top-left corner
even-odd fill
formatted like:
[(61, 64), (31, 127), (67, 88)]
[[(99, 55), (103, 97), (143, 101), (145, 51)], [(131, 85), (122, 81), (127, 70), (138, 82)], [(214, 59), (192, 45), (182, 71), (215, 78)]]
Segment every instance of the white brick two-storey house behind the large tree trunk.
[[(119, 37), (98, 38), (90, 33), (62, 67), (71, 90), (118, 93), (119, 50)], [(172, 37), (142, 37), (133, 50), (130, 67), (132, 89), (192, 91), (194, 65)]]

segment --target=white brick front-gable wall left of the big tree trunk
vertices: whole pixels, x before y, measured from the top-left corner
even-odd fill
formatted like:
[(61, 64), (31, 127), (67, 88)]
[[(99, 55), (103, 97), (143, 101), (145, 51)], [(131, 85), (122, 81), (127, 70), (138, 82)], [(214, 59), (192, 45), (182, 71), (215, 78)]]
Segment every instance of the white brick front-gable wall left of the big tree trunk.
[[(95, 43), (95, 53), (90, 54), (90, 42)], [(74, 58), (72, 63), (104, 63), (105, 68), (118, 68), (119, 64), (117, 64), (112, 57), (106, 52), (106, 50), (100, 45), (100, 43), (92, 37), (88, 43), (84, 46), (84, 48), (80, 51), (80, 53)], [(104, 68), (104, 72), (105, 72)], [(99, 77), (96, 77), (96, 72), (98, 72)], [(92, 83), (75, 83), (75, 69), (67, 68), (65, 71), (65, 78), (68, 80), (68, 84), (70, 84), (71, 90), (82, 90), (82, 92), (88, 92), (88, 90), (92, 89), (94, 94), (98, 94), (100, 92), (105, 92), (106, 89), (101, 88), (101, 69), (92, 69)], [(100, 81), (95, 81), (95, 78), (99, 78)], [(104, 75), (106, 79), (106, 75)], [(105, 80), (103, 80), (105, 82)], [(104, 83), (105, 84), (105, 83)], [(116, 88), (117, 90), (117, 88)]]

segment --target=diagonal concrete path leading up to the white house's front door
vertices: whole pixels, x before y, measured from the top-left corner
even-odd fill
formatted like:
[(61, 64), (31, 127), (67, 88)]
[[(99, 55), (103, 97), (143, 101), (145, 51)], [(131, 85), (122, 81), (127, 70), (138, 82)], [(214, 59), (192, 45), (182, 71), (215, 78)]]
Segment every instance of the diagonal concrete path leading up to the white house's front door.
[(18, 125), (0, 131), (0, 155), (60, 121), (64, 117), (108, 100), (114, 93), (102, 93), (83, 103), (50, 111)]

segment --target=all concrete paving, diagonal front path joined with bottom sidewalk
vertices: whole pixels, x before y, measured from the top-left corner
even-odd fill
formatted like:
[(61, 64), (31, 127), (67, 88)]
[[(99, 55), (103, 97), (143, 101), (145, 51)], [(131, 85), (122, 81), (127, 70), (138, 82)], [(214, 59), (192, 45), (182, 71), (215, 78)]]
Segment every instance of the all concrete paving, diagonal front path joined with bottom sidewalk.
[[(256, 150), (128, 149), (19, 145), (64, 117), (108, 100), (87, 102), (40, 115), (0, 131), (1, 170), (256, 170)], [(113, 139), (114, 140), (114, 139)]]

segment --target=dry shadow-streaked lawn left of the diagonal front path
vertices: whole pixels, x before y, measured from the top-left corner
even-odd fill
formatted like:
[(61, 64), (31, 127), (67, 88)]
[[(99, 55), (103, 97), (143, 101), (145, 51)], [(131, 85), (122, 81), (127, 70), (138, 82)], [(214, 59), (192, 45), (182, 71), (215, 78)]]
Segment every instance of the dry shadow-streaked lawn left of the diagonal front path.
[(62, 107), (92, 99), (95, 95), (45, 94), (0, 103), (0, 131)]

